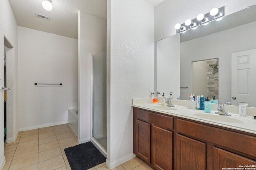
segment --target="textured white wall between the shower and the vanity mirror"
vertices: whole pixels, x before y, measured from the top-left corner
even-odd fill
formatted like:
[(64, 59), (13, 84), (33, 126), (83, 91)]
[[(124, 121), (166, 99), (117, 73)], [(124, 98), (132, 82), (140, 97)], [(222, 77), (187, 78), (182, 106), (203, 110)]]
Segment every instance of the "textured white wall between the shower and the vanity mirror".
[(143, 0), (108, 0), (108, 153), (113, 168), (133, 156), (132, 98), (154, 87), (154, 7)]

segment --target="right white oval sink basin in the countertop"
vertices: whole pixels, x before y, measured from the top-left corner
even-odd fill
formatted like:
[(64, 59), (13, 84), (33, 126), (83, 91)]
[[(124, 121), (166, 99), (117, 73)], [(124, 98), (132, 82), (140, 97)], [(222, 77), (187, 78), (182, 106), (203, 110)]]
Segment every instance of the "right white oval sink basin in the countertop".
[(228, 123), (244, 123), (244, 121), (233, 118), (232, 116), (218, 115), (214, 113), (195, 113), (194, 116), (200, 117), (203, 119), (222, 121), (222, 122), (228, 122)]

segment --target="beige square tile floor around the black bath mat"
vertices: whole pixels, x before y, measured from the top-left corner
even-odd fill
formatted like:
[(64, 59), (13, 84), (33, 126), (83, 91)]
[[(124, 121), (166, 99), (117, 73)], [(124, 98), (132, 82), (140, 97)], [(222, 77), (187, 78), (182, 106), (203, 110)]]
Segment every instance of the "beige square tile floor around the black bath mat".
[[(4, 145), (3, 170), (71, 170), (65, 148), (78, 145), (69, 125), (23, 131), (13, 143)], [(106, 163), (90, 170), (108, 170)], [(113, 170), (152, 170), (139, 158), (133, 158)]]

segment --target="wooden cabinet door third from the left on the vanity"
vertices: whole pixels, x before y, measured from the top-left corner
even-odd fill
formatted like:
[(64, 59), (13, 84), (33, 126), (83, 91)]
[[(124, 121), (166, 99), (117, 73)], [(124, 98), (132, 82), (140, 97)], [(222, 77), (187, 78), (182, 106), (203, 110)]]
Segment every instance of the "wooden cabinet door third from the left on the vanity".
[(206, 144), (177, 135), (177, 170), (205, 170)]

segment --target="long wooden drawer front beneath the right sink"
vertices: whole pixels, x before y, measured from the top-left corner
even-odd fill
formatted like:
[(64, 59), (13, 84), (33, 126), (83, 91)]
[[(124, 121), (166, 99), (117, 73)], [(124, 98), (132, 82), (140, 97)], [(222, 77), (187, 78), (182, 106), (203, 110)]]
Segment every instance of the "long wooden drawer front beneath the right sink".
[(177, 133), (256, 157), (256, 137), (177, 119)]

